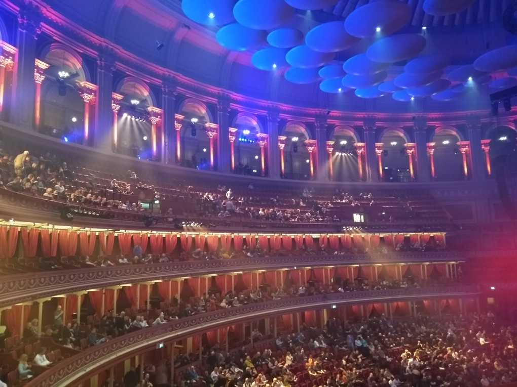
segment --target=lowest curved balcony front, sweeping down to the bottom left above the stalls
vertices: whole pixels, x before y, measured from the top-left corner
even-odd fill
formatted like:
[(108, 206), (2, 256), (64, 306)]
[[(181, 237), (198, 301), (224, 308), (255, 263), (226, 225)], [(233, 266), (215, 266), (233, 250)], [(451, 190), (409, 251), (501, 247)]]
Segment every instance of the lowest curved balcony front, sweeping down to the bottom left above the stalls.
[(214, 312), (197, 314), (155, 327), (145, 328), (90, 347), (52, 367), (26, 384), (26, 387), (66, 387), (80, 383), (115, 363), (154, 348), (157, 343), (172, 343), (194, 334), (266, 317), (296, 313), (310, 308), (325, 309), (329, 305), (364, 304), (404, 300), (476, 297), (481, 293), (474, 286), (405, 288), (385, 291), (335, 293), (295, 297), (248, 304)]

